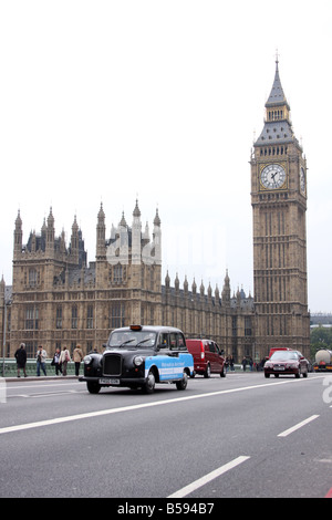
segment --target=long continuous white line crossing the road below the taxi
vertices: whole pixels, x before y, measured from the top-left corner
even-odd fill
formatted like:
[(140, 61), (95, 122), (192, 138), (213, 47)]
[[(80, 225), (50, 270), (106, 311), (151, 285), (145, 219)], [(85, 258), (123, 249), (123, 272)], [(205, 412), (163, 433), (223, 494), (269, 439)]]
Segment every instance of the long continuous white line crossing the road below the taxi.
[[(193, 401), (193, 399), (203, 399), (205, 397), (214, 397), (217, 395), (224, 395), (224, 394), (234, 394), (236, 392), (248, 392), (251, 389), (257, 389), (257, 388), (264, 388), (267, 386), (276, 386), (276, 385), (284, 385), (284, 384), (294, 384), (294, 383), (300, 383), (300, 382), (307, 382), (308, 379), (287, 379), (287, 381), (279, 381), (276, 383), (264, 383), (260, 385), (252, 385), (252, 386), (242, 386), (240, 388), (229, 388), (229, 389), (224, 389), (224, 391), (216, 391), (216, 392), (209, 392), (207, 394), (195, 394), (195, 395), (189, 395), (186, 397), (177, 397), (173, 399), (165, 399), (165, 401), (155, 401), (153, 403), (141, 403), (137, 405), (131, 405), (131, 406), (122, 406), (120, 408), (107, 408), (107, 409), (102, 409), (97, 412), (87, 412), (85, 414), (77, 414), (77, 415), (69, 415), (65, 417), (56, 417), (53, 419), (46, 419), (46, 420), (40, 420), (38, 423), (27, 423), (22, 425), (15, 425), (15, 426), (7, 426), (4, 428), (0, 428), (0, 435), (2, 434), (9, 434), (12, 431), (20, 431), (24, 429), (30, 429), (30, 428), (39, 428), (42, 426), (51, 426), (51, 425), (56, 425), (61, 423), (69, 423), (72, 420), (81, 420), (81, 419), (87, 419), (91, 417), (101, 417), (103, 415), (111, 415), (111, 414), (118, 414), (122, 412), (132, 412), (136, 409), (142, 409), (142, 408), (149, 408), (153, 406), (163, 406), (163, 405), (168, 405), (173, 403), (180, 403), (180, 402), (186, 402), (186, 401)], [(313, 379), (311, 379), (313, 381)], [(6, 406), (6, 405), (4, 405)]]

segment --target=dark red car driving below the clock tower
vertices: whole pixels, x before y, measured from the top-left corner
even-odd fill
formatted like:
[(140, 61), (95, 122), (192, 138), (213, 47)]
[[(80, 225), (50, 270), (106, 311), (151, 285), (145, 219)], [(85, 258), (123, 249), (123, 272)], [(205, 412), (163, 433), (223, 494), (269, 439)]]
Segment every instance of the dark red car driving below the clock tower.
[(295, 377), (308, 376), (309, 361), (299, 351), (276, 351), (264, 364), (264, 375), (274, 377), (283, 374), (292, 374)]

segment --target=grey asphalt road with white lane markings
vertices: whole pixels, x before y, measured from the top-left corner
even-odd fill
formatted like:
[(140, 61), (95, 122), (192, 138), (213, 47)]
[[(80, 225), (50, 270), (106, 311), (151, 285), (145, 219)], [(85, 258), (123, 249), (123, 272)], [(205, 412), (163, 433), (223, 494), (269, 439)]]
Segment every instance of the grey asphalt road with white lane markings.
[(0, 497), (323, 498), (331, 405), (325, 374), (230, 373), (153, 395), (91, 395), (65, 377), (7, 382)]

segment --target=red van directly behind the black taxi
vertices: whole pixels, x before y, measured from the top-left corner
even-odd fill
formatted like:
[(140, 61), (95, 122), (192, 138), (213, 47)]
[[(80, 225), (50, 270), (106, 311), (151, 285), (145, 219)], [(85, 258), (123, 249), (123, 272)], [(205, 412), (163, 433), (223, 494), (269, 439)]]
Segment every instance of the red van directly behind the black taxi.
[(186, 340), (188, 351), (194, 357), (194, 375), (200, 374), (210, 377), (220, 374), (226, 377), (224, 351), (211, 340)]

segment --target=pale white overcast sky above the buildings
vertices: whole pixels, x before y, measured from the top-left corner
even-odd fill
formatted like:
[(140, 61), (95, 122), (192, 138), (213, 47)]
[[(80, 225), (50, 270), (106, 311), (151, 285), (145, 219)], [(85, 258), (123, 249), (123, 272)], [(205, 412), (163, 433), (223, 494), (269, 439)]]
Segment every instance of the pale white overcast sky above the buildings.
[(250, 153), (276, 50), (308, 160), (309, 309), (332, 311), (331, 0), (0, 0), (0, 270), (52, 207), (89, 261), (136, 198), (163, 280), (253, 293)]

